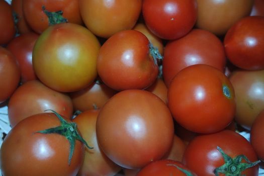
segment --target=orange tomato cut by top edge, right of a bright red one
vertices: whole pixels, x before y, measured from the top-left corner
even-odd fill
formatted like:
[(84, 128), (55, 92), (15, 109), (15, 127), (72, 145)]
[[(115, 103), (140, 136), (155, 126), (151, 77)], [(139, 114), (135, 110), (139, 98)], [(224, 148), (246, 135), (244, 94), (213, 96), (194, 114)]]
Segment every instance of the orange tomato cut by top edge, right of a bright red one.
[(253, 0), (197, 0), (196, 27), (224, 36), (239, 19), (249, 16)]

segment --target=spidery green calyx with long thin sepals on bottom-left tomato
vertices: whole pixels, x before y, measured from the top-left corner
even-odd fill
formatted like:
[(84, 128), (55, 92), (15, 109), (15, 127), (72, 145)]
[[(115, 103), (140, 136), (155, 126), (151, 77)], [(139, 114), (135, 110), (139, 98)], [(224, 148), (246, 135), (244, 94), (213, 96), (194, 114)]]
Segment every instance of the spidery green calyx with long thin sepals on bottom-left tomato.
[(46, 130), (37, 131), (36, 133), (42, 133), (42, 134), (50, 134), (50, 133), (57, 133), (62, 136), (65, 136), (69, 143), (70, 143), (70, 151), (69, 151), (69, 157), (68, 157), (68, 164), (70, 165), (70, 161), (73, 155), (74, 146), (75, 146), (75, 140), (79, 140), (82, 142), (87, 148), (93, 149), (93, 147), (90, 147), (86, 141), (80, 136), (77, 130), (77, 125), (74, 122), (67, 122), (64, 120), (58, 113), (56, 113), (53, 110), (46, 110), (46, 111), (52, 111), (58, 118), (61, 123), (60, 126), (49, 128)]

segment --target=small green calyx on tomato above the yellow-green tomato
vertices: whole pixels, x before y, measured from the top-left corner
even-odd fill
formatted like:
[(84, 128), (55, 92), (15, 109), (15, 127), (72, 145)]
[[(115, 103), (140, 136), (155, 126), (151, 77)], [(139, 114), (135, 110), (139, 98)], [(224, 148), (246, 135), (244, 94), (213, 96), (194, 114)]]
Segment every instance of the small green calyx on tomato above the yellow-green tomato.
[(43, 12), (47, 15), (49, 19), (49, 26), (59, 24), (59, 23), (67, 23), (68, 20), (62, 16), (62, 11), (57, 12), (49, 12), (46, 10), (45, 6), (42, 6)]

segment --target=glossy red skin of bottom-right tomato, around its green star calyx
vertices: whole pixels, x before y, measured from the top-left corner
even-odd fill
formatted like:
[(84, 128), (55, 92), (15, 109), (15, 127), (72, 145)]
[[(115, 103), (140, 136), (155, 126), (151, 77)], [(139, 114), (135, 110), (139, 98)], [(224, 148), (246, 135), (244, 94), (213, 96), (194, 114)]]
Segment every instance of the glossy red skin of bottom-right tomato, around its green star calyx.
[[(223, 130), (194, 138), (186, 148), (183, 163), (197, 175), (214, 176), (213, 170), (224, 164), (223, 156), (217, 150), (217, 146), (232, 158), (243, 154), (251, 162), (257, 160), (249, 141), (234, 131)], [(245, 161), (242, 159), (242, 162)], [(257, 176), (258, 166), (245, 169), (241, 175)]]

